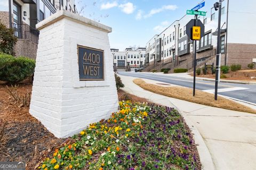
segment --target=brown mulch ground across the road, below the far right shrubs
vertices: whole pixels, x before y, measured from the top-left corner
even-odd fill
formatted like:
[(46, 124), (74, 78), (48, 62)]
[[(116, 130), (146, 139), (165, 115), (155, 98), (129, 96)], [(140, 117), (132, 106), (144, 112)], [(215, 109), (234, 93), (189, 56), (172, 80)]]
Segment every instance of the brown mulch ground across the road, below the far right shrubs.
[[(193, 73), (189, 75), (193, 76)], [(256, 70), (239, 70), (239, 71), (229, 71), (225, 74), (227, 78), (221, 78), (223, 80), (240, 80), (240, 81), (256, 81)], [(196, 75), (196, 77), (201, 78), (212, 78), (215, 79), (215, 74), (201, 74)]]

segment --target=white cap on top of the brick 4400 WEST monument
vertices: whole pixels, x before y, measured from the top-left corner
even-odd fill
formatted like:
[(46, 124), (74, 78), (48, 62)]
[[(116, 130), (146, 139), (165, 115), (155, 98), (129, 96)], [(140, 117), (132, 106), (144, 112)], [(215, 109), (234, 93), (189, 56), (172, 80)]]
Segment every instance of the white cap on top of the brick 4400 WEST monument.
[(54, 22), (57, 22), (63, 18), (69, 18), (71, 20), (74, 20), (76, 22), (79, 22), (84, 25), (89, 25), (90, 27), (105, 31), (105, 32), (112, 32), (112, 28), (108, 27), (107, 25), (101, 24), (99, 22), (87, 19), (83, 16), (80, 16), (78, 14), (66, 11), (66, 10), (60, 10), (56, 13), (52, 14), (48, 18), (44, 19), (43, 21), (36, 24), (36, 28), (38, 30), (41, 30), (44, 27), (47, 27), (47, 25), (50, 25)]

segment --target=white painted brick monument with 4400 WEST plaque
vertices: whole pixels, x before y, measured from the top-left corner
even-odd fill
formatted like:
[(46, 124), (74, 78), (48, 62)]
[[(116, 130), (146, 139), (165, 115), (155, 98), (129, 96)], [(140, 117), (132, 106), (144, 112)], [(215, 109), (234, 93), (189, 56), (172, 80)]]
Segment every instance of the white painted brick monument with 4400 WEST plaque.
[(63, 138), (116, 112), (111, 28), (68, 11), (36, 27), (40, 35), (30, 114)]

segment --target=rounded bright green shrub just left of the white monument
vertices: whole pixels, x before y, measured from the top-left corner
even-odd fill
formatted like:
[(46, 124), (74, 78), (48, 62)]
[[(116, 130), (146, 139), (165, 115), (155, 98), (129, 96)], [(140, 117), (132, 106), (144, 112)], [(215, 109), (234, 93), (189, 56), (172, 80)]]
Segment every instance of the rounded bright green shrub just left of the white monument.
[(35, 60), (0, 53), (0, 80), (18, 83), (34, 74)]

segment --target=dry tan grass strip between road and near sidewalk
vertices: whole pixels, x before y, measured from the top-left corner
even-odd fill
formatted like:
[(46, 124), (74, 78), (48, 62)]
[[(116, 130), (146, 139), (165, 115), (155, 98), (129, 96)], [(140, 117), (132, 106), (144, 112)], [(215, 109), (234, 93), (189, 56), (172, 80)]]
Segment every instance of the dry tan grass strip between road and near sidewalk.
[(218, 96), (218, 100), (214, 100), (214, 95), (207, 92), (196, 90), (196, 96), (193, 97), (193, 89), (186, 87), (162, 87), (155, 84), (149, 84), (141, 79), (133, 80), (135, 84), (143, 89), (172, 98), (190, 101), (197, 104), (229, 109), (232, 111), (254, 113), (256, 111), (250, 107), (239, 104), (235, 101)]

